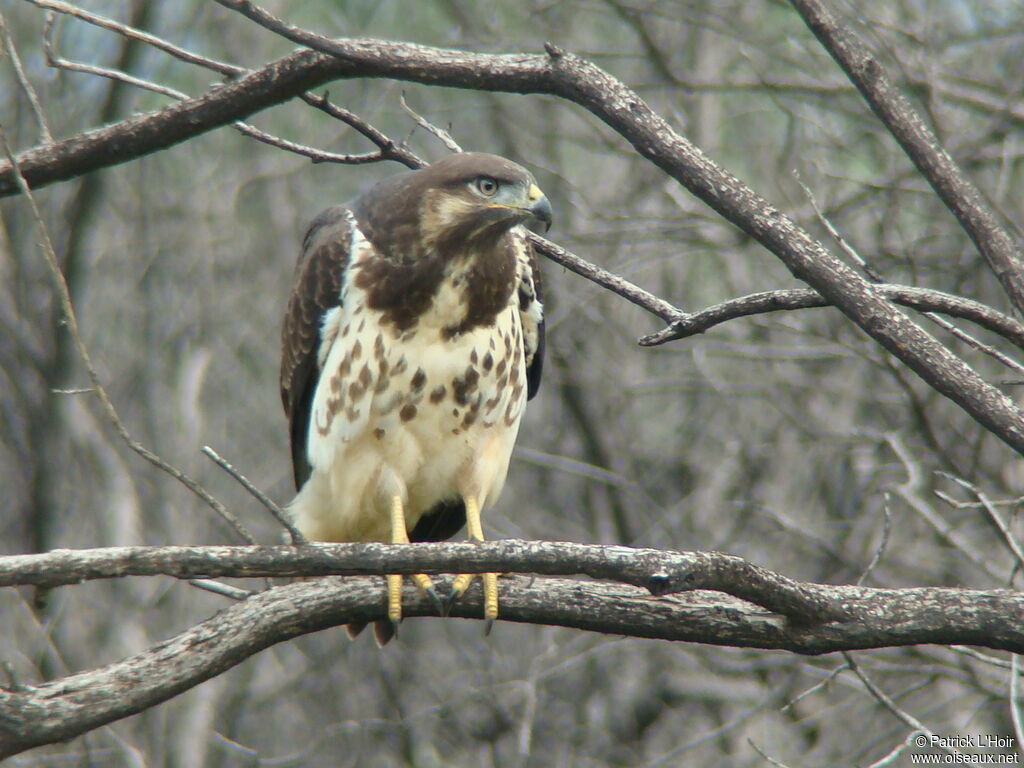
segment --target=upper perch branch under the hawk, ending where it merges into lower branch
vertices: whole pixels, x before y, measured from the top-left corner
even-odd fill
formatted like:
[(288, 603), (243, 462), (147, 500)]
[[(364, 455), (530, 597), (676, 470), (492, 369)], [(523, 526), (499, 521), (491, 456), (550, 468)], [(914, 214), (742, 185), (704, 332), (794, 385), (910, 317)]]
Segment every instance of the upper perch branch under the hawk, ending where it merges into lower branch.
[(59, 587), (94, 579), (172, 575), (383, 575), (385, 573), (584, 574), (656, 595), (707, 589), (731, 594), (800, 622), (841, 618), (821, 587), (800, 584), (734, 555), (666, 552), (564, 542), (316, 544), (307, 547), (111, 547), (0, 557), (0, 587)]

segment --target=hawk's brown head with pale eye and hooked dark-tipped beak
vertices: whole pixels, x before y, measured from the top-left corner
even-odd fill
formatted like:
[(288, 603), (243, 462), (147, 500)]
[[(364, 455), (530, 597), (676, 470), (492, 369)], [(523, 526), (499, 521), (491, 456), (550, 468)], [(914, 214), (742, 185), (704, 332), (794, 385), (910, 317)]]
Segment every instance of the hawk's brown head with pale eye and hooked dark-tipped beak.
[[(438, 253), (483, 250), (529, 220), (551, 227), (551, 204), (522, 166), (496, 155), (450, 155), (421, 171), (424, 240)], [(547, 229), (545, 229), (547, 230)]]

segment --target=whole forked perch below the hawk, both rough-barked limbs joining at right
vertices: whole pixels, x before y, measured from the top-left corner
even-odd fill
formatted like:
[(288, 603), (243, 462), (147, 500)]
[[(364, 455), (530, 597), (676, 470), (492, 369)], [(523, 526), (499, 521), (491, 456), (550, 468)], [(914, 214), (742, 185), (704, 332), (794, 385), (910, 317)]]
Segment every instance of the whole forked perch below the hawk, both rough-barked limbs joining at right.
[[(251, 577), (455, 567), (581, 572), (630, 582), (504, 577), (499, 581), (503, 621), (811, 654), (920, 643), (1024, 651), (1024, 596), (1017, 592), (800, 584), (719, 553), (493, 542), (128, 547), (0, 559), (2, 583), (8, 585), (68, 584), (129, 573)], [(654, 596), (651, 587), (659, 593), (687, 591)], [(407, 616), (435, 615), (433, 602), (412, 587), (407, 587), (402, 601)], [(455, 603), (452, 615), (478, 617), (481, 611), (480, 592), (474, 587)], [(120, 662), (51, 682), (0, 688), (0, 758), (141, 712), (275, 643), (349, 622), (383, 618), (385, 612), (379, 578), (327, 578), (273, 587)]]

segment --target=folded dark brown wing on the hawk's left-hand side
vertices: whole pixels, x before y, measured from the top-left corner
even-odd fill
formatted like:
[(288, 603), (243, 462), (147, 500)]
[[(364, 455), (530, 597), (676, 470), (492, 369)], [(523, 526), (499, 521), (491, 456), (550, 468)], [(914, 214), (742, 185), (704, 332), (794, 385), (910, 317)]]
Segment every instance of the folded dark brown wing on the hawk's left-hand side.
[(295, 488), (309, 477), (306, 433), (319, 367), (324, 315), (341, 303), (341, 283), (348, 266), (352, 226), (347, 208), (329, 208), (313, 219), (295, 264), (292, 295), (285, 311), (281, 342), (281, 400), (288, 416)]

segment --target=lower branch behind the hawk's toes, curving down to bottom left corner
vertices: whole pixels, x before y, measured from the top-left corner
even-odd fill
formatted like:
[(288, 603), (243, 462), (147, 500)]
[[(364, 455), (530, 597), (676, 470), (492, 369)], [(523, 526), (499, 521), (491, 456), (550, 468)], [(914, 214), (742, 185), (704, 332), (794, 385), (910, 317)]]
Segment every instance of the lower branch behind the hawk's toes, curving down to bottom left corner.
[[(526, 577), (505, 577), (499, 584), (502, 618), (512, 622), (798, 653), (915, 643), (1024, 650), (1024, 597), (1013, 592), (822, 588), (851, 610), (851, 621), (800, 626), (708, 592), (652, 597), (624, 585)], [(382, 618), (384, 602), (379, 579), (276, 587), (121, 662), (48, 683), (0, 689), (0, 758), (141, 712), (275, 643), (348, 622)], [(412, 587), (402, 602), (408, 616), (434, 613), (433, 602)], [(474, 588), (455, 603), (453, 615), (476, 617), (481, 609)]]

